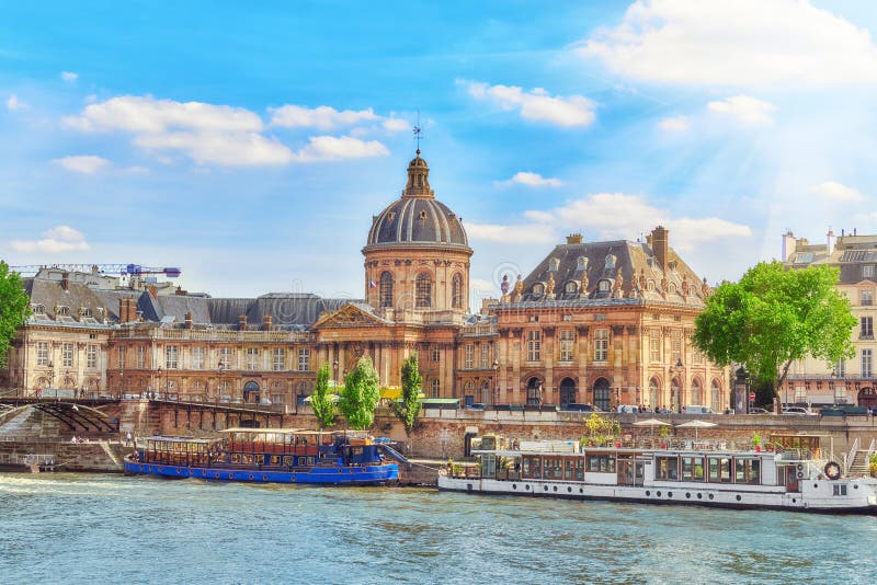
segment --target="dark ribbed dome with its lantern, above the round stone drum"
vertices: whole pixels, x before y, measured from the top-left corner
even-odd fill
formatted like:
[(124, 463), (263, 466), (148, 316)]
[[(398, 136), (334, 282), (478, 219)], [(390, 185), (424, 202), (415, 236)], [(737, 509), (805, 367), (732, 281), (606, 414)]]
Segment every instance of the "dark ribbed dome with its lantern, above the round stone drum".
[(430, 188), (430, 167), (420, 157), (408, 164), (408, 184), (402, 197), (375, 216), (366, 246), (444, 244), (469, 249), (457, 215), (435, 199)]

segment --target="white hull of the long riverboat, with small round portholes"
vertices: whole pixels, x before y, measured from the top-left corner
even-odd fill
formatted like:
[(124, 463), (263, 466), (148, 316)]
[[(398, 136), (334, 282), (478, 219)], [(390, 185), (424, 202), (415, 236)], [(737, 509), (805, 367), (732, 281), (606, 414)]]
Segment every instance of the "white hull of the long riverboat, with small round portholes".
[[(847, 495), (833, 495), (846, 485)], [(877, 514), (877, 491), (869, 479), (804, 480), (800, 492), (783, 486), (729, 485), (694, 482), (650, 482), (641, 486), (593, 484), (580, 481), (492, 480), (438, 477), (438, 489), (456, 492), (607, 500), (734, 508), (789, 509), (835, 514)]]

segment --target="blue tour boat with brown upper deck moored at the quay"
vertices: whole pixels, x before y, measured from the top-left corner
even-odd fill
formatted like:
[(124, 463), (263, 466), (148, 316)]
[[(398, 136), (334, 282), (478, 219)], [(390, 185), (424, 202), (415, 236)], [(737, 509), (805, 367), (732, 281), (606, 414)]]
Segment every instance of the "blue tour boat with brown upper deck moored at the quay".
[(248, 483), (381, 485), (407, 462), (363, 432), (229, 428), (220, 438), (152, 436), (137, 439), (125, 473)]

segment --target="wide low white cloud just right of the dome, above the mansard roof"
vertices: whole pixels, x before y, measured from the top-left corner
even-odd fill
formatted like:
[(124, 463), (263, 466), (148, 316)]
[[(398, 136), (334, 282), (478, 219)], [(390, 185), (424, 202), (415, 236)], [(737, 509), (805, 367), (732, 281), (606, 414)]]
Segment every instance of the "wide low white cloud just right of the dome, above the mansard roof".
[(672, 245), (693, 250), (697, 244), (727, 238), (749, 238), (748, 226), (717, 217), (677, 217), (651, 205), (641, 195), (596, 193), (548, 210), (533, 209), (524, 217), (531, 223), (502, 226), (467, 223), (474, 240), (551, 243), (569, 230), (582, 230), (592, 240), (625, 240), (663, 225), (671, 230)]

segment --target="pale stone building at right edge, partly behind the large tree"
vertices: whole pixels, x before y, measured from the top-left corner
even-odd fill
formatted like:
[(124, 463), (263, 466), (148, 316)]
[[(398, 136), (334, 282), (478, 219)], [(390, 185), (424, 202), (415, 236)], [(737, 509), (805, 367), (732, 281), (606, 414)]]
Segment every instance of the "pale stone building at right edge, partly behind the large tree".
[(850, 299), (858, 325), (851, 332), (855, 347), (852, 359), (827, 365), (818, 359), (794, 363), (779, 397), (785, 403), (877, 405), (874, 356), (874, 299), (877, 295), (877, 236), (841, 232), (834, 239), (829, 231), (825, 243), (811, 244), (796, 239), (789, 231), (783, 236), (783, 261), (789, 268), (829, 265), (839, 268), (838, 289)]

